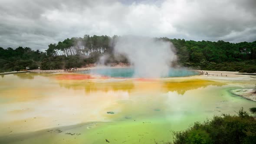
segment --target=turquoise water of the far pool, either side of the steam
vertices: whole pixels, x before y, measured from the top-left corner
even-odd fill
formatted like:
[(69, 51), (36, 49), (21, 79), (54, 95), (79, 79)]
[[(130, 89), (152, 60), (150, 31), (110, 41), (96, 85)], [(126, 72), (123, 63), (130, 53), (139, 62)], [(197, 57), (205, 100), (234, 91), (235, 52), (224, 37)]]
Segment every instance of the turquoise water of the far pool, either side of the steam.
[[(95, 74), (108, 77), (116, 78), (131, 78), (134, 76), (135, 70), (132, 68), (99, 68), (99, 69), (90, 69), (86, 71), (77, 71), (76, 73), (82, 74)], [(196, 71), (190, 71), (187, 69), (170, 69), (166, 77), (183, 77), (190, 75), (198, 75)]]

